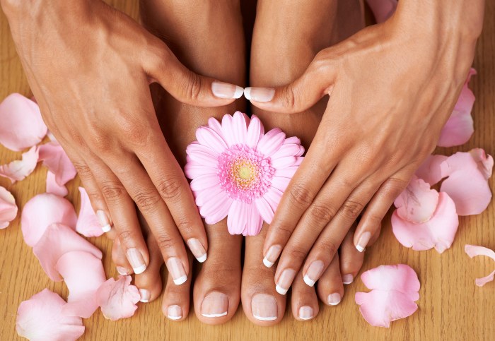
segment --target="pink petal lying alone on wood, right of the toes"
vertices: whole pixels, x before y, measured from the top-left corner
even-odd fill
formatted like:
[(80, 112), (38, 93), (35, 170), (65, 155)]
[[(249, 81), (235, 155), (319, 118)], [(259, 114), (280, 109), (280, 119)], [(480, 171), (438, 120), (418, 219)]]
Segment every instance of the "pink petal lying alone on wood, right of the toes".
[(356, 292), (356, 304), (363, 318), (375, 327), (390, 327), (390, 322), (417, 311), (419, 280), (408, 265), (380, 265), (361, 275), (371, 292)]

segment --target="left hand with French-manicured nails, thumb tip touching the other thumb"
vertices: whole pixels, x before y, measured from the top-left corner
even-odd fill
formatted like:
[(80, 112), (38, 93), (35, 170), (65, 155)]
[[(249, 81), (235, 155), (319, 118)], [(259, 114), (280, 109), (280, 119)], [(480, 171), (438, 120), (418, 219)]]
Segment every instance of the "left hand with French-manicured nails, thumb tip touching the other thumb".
[[(161, 40), (103, 1), (3, 1), (50, 131), (74, 162), (105, 229), (115, 224), (134, 273), (149, 263), (134, 203), (176, 284), (208, 243), (182, 169), (153, 110), (149, 83), (187, 104), (219, 106), (242, 88), (198, 76)], [(177, 229), (178, 227), (178, 229)]]

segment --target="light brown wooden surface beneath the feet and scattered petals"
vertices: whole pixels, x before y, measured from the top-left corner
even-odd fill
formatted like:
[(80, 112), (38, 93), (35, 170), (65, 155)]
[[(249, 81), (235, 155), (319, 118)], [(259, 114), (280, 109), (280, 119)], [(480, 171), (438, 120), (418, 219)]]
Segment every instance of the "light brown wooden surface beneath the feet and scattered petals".
[[(136, 18), (137, 1), (111, 1), (114, 6)], [(476, 95), (474, 104), (474, 136), (460, 148), (443, 152), (467, 151), (481, 147), (495, 154), (495, 0), (487, 0), (484, 31), (477, 45), (474, 76), (471, 86)], [(11, 92), (30, 95), (28, 83), (13, 47), (8, 24), (0, 16), (0, 100)], [(2, 122), (0, 122), (2, 124)], [(0, 146), (0, 164), (21, 156)], [(46, 170), (38, 164), (28, 179), (11, 185), (0, 178), (16, 197), (19, 207), (37, 193), (45, 191)], [(69, 183), (69, 200), (78, 207), (78, 179)], [(494, 181), (490, 181), (494, 192)], [(23, 242), (20, 215), (10, 227), (0, 230), (0, 340), (19, 340), (16, 334), (16, 311), (21, 301), (45, 287), (66, 297), (63, 282), (52, 282), (43, 273), (30, 247)], [(419, 310), (409, 318), (395, 321), (392, 327), (373, 328), (366, 323), (354, 303), (356, 291), (366, 291), (361, 280), (346, 287), (342, 304), (321, 306), (314, 321), (298, 322), (289, 311), (274, 327), (252, 325), (238, 309), (232, 321), (219, 326), (199, 323), (194, 312), (181, 323), (162, 316), (161, 299), (141, 304), (133, 318), (112, 322), (98, 311), (84, 320), (86, 333), (81, 340), (495, 340), (495, 283), (485, 287), (474, 285), (475, 277), (487, 275), (495, 263), (485, 258), (470, 259), (463, 251), (465, 244), (477, 244), (495, 249), (495, 205), (481, 215), (461, 217), (460, 228), (453, 246), (442, 255), (434, 250), (412, 251), (401, 246), (393, 237), (390, 217), (383, 226), (382, 237), (368, 249), (363, 270), (381, 264), (405, 263), (419, 275), (421, 290)], [(110, 241), (93, 238), (104, 253), (107, 275), (116, 275), (110, 259)]]

